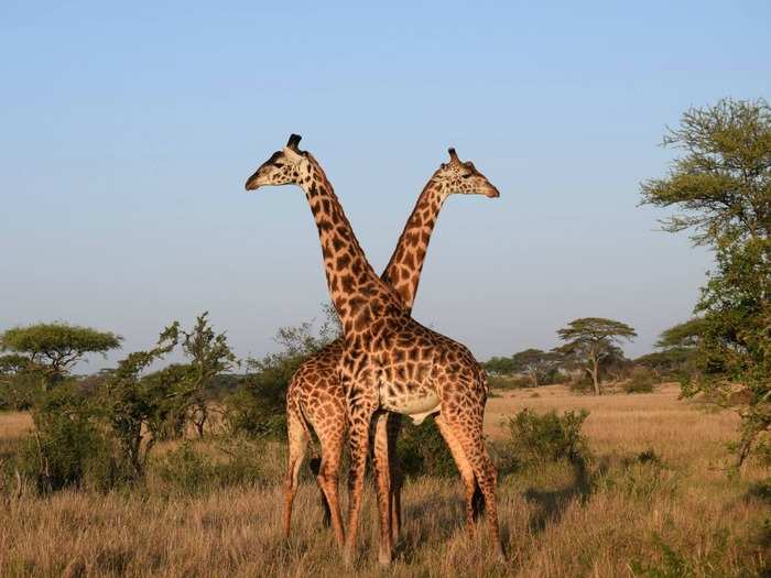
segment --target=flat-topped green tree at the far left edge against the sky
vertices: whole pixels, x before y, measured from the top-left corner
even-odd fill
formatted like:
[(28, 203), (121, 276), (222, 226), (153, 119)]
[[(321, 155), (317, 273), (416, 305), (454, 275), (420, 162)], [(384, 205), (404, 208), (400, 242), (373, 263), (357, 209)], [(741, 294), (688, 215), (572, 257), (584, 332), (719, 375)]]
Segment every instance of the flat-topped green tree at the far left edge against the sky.
[(120, 347), (122, 338), (64, 323), (36, 324), (8, 329), (0, 336), (0, 348), (23, 355), (42, 370), (43, 389), (64, 379), (89, 353), (102, 356)]

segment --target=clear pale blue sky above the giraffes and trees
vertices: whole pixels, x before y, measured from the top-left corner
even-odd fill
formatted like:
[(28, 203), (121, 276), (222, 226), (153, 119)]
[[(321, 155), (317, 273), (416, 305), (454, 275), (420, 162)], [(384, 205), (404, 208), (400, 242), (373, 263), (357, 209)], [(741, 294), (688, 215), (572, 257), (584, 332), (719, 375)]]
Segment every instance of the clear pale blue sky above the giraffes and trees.
[(300, 189), (243, 192), (290, 132), (378, 271), (448, 145), (498, 186), (445, 204), (414, 309), (480, 359), (584, 316), (637, 356), (689, 316), (712, 255), (639, 182), (689, 106), (771, 96), (771, 3), (365, 4), (0, 2), (0, 330), (131, 350), (208, 309), (274, 349), (327, 299)]

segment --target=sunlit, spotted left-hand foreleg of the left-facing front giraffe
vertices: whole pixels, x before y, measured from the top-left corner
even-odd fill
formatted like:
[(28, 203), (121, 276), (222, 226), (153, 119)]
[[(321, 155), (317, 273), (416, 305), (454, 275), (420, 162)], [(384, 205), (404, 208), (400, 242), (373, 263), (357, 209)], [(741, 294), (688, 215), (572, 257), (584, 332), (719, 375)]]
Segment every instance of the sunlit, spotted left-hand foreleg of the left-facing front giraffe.
[[(374, 388), (372, 388), (374, 390)], [(350, 470), (348, 473), (348, 489), (350, 497), (348, 500), (348, 533), (343, 550), (343, 558), (347, 566), (354, 561), (356, 550), (356, 535), (359, 527), (359, 516), (361, 514), (361, 502), (365, 491), (365, 473), (367, 471), (367, 456), (369, 451), (369, 430), (374, 403), (367, 404), (363, 400), (356, 400), (348, 403), (349, 433), (348, 444), (350, 446)], [(380, 502), (379, 502), (380, 503)]]

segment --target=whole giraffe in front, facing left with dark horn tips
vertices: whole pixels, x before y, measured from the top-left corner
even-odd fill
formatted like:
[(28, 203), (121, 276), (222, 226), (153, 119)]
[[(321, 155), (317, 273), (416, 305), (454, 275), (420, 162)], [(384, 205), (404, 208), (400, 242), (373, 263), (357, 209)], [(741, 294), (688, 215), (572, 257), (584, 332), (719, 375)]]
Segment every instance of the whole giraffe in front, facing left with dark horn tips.
[[(378, 443), (388, 438), (387, 412), (409, 415), (417, 424), (438, 414), (435, 422), (466, 487), (467, 519), (473, 517), (476, 481), (485, 499), (493, 547), (502, 556), (497, 472), (482, 438), (488, 394), (485, 372), (465, 346), (412, 319), (397, 290), (374, 273), (332, 184), (313, 155), (298, 149), (300, 139), (290, 137), (286, 146), (248, 178), (246, 188), (298, 185), (318, 229), (327, 287), (345, 336), (337, 368), (346, 392), (350, 448), (344, 560), (350, 565), (356, 549), (370, 428), (374, 430), (373, 455), (380, 456), (373, 460), (378, 560), (388, 565), (392, 559), (390, 456), (387, 445)], [(391, 282), (398, 287), (401, 273)]]

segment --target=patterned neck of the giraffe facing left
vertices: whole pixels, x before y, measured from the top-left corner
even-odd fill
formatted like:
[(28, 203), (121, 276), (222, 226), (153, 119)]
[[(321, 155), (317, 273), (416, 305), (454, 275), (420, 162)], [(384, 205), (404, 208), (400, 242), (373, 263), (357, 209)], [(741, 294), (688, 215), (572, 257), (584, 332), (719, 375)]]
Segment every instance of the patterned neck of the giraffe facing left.
[(350, 338), (354, 331), (367, 330), (378, 315), (403, 310), (403, 305), (369, 264), (324, 171), (315, 160), (311, 165), (300, 185), (318, 229), (329, 296)]

